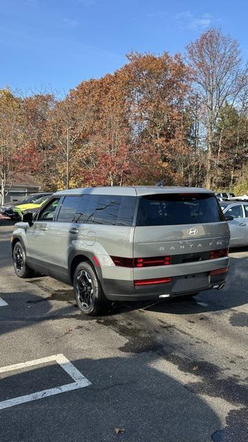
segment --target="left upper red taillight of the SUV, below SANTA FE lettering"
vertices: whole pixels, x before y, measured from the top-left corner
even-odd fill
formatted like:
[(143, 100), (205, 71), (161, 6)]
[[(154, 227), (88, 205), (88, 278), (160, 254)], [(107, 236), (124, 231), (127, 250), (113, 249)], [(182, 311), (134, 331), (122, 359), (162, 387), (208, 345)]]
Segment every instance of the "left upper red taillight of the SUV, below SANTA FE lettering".
[(171, 256), (152, 256), (147, 258), (122, 258), (121, 256), (110, 256), (114, 264), (118, 267), (152, 267), (169, 265)]

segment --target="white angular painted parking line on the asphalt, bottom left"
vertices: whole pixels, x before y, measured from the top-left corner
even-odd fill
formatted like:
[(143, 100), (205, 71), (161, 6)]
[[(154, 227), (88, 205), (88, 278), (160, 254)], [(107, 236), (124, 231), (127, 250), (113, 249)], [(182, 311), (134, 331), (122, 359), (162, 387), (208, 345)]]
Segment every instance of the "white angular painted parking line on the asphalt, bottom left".
[(91, 385), (79, 370), (74, 367), (70, 361), (68, 361), (63, 354), (55, 354), (54, 356), (48, 356), (48, 358), (35, 359), (34, 361), (27, 361), (21, 364), (8, 365), (6, 367), (0, 367), (1, 373), (12, 372), (13, 370), (23, 369), (25, 367), (33, 367), (34, 365), (41, 365), (43, 363), (56, 361), (70, 377), (73, 379), (73, 383), (61, 385), (60, 387), (50, 388), (48, 390), (43, 390), (41, 392), (36, 392), (32, 394), (25, 394), (25, 396), (19, 396), (17, 398), (8, 399), (7, 401), (0, 402), (0, 410), (3, 408), (13, 407), (13, 405), (20, 405), (21, 403), (37, 401), (37, 399), (46, 398), (48, 396), (53, 396), (54, 394), (60, 394), (65, 392), (70, 392), (71, 390), (76, 390), (77, 388), (87, 387)]

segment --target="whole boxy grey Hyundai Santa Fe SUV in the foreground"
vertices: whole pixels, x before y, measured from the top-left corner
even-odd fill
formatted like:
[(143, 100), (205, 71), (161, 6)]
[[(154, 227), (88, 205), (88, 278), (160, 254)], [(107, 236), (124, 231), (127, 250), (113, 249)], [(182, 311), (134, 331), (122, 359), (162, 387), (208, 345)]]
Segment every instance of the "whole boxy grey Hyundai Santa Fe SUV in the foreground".
[(54, 193), (14, 226), (20, 278), (34, 271), (74, 287), (83, 313), (107, 300), (194, 296), (220, 289), (229, 227), (216, 196), (185, 187), (102, 187)]

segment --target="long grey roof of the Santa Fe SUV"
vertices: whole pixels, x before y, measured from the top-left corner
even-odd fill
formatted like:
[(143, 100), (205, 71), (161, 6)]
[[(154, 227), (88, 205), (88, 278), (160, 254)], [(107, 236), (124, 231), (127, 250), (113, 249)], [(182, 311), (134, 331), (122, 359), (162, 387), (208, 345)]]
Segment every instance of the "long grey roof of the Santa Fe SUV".
[(112, 186), (112, 187), (85, 187), (81, 189), (68, 189), (54, 193), (54, 195), (124, 195), (142, 196), (154, 195), (154, 193), (212, 193), (202, 187), (180, 187), (180, 186)]

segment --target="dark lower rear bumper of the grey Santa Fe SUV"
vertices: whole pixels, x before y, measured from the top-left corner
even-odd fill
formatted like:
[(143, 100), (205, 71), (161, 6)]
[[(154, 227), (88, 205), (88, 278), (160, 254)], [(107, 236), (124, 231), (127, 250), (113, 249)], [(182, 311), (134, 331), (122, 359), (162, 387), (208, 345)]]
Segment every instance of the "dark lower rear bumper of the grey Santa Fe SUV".
[[(105, 296), (110, 300), (154, 300), (160, 297), (176, 297), (198, 291), (218, 289), (225, 285), (227, 273), (210, 276), (209, 272), (174, 276), (165, 284), (134, 286), (134, 281), (103, 280)], [(166, 295), (166, 296), (165, 296)]]

